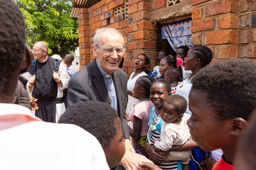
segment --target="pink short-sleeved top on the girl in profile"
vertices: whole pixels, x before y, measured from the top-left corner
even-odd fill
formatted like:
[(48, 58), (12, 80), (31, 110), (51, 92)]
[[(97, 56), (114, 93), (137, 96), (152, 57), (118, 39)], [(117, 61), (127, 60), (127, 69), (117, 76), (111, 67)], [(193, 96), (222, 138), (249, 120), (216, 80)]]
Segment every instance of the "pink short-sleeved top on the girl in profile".
[(141, 101), (129, 114), (129, 119), (132, 122), (134, 122), (134, 116), (142, 120), (141, 136), (146, 136), (148, 133), (148, 119), (152, 107), (154, 107), (152, 101)]

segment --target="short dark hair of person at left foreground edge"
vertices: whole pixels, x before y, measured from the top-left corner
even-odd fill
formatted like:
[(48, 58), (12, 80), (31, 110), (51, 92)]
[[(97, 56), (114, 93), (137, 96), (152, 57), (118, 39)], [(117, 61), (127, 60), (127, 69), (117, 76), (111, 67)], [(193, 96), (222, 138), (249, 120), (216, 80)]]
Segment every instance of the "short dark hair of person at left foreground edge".
[(0, 89), (8, 96), (9, 77), (25, 55), (26, 26), (19, 7), (12, 0), (0, 0)]

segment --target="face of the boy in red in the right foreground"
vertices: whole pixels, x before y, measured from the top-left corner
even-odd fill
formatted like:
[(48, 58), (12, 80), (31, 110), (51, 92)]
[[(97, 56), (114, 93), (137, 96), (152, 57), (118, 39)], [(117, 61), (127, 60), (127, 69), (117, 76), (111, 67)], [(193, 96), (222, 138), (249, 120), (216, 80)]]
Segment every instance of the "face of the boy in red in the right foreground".
[[(230, 144), (229, 120), (220, 121), (207, 102), (206, 93), (194, 90), (189, 93), (191, 118), (187, 121), (192, 139), (205, 151), (225, 148)], [(231, 126), (232, 127), (232, 126)]]

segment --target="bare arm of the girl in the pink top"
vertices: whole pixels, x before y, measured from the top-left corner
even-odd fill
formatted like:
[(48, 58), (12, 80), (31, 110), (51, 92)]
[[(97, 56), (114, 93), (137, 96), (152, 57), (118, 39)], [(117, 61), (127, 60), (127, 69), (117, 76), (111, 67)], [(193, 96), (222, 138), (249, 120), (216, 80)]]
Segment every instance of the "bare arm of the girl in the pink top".
[(141, 137), (141, 126), (142, 120), (137, 116), (134, 116), (133, 129), (127, 125), (130, 136), (136, 141), (139, 141), (139, 138)]

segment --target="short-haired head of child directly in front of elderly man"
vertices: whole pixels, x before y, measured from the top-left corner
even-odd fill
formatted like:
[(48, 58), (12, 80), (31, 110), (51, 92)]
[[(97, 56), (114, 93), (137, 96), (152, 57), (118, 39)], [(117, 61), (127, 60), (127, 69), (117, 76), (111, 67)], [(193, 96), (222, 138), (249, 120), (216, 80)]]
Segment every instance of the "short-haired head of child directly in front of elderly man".
[(95, 136), (105, 152), (109, 168), (117, 166), (124, 156), (121, 121), (115, 109), (109, 104), (100, 101), (80, 101), (71, 105), (58, 123), (78, 125)]

